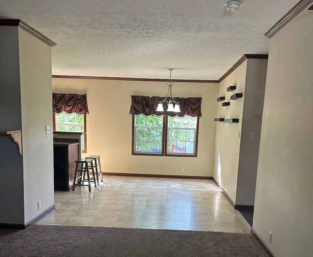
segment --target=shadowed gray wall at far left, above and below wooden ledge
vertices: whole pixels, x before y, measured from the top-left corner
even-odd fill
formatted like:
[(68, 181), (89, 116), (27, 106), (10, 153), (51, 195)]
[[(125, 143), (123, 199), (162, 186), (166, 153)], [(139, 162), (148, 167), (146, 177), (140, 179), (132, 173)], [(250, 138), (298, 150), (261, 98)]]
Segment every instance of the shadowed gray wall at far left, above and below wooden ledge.
[[(18, 27), (0, 26), (0, 130), (21, 130)], [(0, 223), (24, 223), (23, 164), (17, 145), (0, 136)]]

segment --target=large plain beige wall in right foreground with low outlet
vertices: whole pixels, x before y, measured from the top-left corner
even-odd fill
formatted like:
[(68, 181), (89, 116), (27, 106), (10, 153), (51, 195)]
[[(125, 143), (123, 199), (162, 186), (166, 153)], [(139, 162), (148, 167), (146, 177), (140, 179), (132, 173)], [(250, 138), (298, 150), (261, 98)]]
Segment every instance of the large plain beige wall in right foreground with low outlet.
[(305, 9), (269, 43), (253, 228), (277, 257), (313, 256), (312, 20)]

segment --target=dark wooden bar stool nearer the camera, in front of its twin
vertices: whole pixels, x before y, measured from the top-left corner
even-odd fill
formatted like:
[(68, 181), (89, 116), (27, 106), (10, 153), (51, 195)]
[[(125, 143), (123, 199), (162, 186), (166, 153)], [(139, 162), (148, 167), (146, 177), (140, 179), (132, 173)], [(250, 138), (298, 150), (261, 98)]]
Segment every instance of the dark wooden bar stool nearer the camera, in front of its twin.
[[(92, 171), (92, 178), (94, 182), (94, 187), (97, 187), (95, 175), (94, 175), (94, 166), (93, 166), (93, 159), (80, 159), (75, 161), (75, 174), (74, 174), (74, 183), (73, 183), (73, 191), (75, 191), (75, 186), (88, 186), (89, 192), (91, 192), (91, 183), (90, 183), (90, 171)], [(80, 176), (77, 176), (77, 172), (81, 172)], [(87, 179), (85, 179), (85, 175), (87, 173)], [(83, 178), (83, 179), (82, 179)], [(79, 179), (79, 184), (76, 184), (76, 180)], [(88, 185), (84, 185), (84, 182), (88, 182)]]

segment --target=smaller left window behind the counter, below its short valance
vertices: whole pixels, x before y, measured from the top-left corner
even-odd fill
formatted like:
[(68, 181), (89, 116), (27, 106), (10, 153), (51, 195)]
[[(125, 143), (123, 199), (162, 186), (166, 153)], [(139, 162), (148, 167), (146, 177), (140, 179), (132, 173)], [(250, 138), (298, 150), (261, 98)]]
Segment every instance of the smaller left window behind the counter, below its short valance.
[(83, 152), (87, 152), (86, 114), (54, 113), (53, 129), (63, 132), (84, 132), (82, 140)]

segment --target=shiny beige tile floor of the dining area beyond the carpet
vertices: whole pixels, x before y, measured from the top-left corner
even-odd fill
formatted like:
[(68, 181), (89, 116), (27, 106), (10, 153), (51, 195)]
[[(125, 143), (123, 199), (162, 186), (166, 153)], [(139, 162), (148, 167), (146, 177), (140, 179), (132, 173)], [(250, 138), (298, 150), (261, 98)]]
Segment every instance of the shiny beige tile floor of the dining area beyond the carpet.
[(104, 176), (100, 187), (55, 192), (37, 224), (250, 233), (212, 180)]

